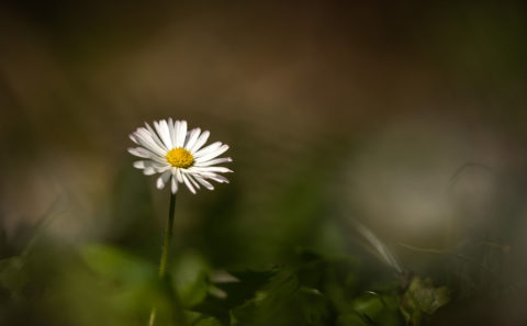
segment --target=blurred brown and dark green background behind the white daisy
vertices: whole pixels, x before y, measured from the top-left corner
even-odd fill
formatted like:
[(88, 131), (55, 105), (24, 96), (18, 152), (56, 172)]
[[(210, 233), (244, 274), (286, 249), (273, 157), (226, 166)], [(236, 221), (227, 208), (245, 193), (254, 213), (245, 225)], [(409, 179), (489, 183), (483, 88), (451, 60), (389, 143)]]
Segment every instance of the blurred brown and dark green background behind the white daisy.
[(33, 257), (0, 324), (105, 325), (86, 244), (157, 263), (168, 192), (126, 148), (168, 116), (235, 171), (178, 193), (173, 259), (359, 255), (360, 221), (467, 284), (433, 323), (527, 323), (525, 3), (3, 1), (0, 26), (0, 258)]

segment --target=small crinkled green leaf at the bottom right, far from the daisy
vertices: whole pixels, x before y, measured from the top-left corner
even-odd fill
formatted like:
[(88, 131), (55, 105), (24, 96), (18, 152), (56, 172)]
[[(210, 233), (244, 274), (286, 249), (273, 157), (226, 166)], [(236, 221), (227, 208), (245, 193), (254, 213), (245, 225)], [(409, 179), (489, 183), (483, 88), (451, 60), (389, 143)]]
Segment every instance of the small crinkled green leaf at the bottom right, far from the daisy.
[(434, 288), (430, 279), (416, 277), (402, 296), (401, 312), (406, 323), (417, 326), (421, 325), (423, 313), (431, 315), (449, 301), (450, 294), (446, 286)]

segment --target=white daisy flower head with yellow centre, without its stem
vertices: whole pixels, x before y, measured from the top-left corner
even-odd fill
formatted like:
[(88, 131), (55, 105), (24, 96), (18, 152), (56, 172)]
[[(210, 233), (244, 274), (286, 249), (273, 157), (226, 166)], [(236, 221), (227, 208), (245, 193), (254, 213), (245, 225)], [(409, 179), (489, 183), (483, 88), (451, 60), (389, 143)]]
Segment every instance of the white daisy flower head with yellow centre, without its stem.
[(187, 132), (187, 121), (172, 122), (172, 119), (154, 121), (155, 131), (146, 122), (145, 126), (130, 135), (138, 147), (128, 148), (128, 153), (144, 158), (135, 161), (134, 167), (142, 169), (146, 176), (161, 173), (157, 179), (158, 189), (170, 182), (171, 191), (176, 193), (179, 182), (195, 193), (200, 186), (214, 189), (208, 180), (228, 183), (227, 178), (220, 173), (232, 170), (215, 166), (233, 161), (231, 157), (216, 158), (228, 149), (228, 145), (216, 142), (203, 147), (209, 131), (193, 128)]

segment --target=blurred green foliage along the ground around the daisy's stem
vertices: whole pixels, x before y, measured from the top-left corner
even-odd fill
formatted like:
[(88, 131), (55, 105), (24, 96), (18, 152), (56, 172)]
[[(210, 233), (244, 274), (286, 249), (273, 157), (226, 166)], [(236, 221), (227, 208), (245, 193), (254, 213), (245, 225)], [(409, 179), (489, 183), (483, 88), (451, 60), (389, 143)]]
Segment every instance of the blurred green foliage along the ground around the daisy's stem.
[[(451, 250), (403, 246), (437, 258), (436, 265), (421, 271), (394, 265), (394, 254), (378, 236), (346, 218), (333, 223), (350, 239), (318, 244), (313, 240), (317, 216), (329, 211), (321, 183), (307, 182), (306, 173), (309, 169), (301, 169), (299, 178), (292, 178), (281, 195), (262, 210), (291, 216), (280, 228), (283, 234), (273, 235), (273, 249), (287, 251), (269, 254), (266, 249), (261, 252), (267, 258), (251, 257), (245, 266), (236, 261), (260, 252), (258, 241), (268, 238), (250, 243), (250, 237), (236, 233), (229, 224), (238, 207), (234, 184), (234, 190), (204, 196), (206, 204), (194, 207), (223, 220), (200, 225), (203, 229), (191, 234), (204, 235), (200, 239), (181, 235), (165, 279), (158, 278), (157, 248), (145, 249), (128, 238), (141, 233), (144, 222), (132, 217), (128, 227), (133, 228), (117, 233), (113, 244), (67, 247), (42, 237), (53, 222), (49, 215), (36, 227), (23, 229), (19, 238), (25, 241), (5, 251), (9, 257), (0, 261), (0, 322), (29, 325), (49, 312), (53, 317), (47, 325), (145, 325), (155, 306), (158, 325), (418, 326), (451, 321), (448, 310), (456, 311), (458, 304), (462, 308), (467, 300), (473, 301), (486, 290), (522, 291), (522, 284), (505, 283), (496, 274), (509, 248), (492, 241), (468, 243)], [(146, 193), (128, 195), (149, 200)], [(117, 214), (122, 210), (130, 216), (136, 214), (130, 205), (122, 205)], [(352, 228), (357, 228), (355, 233)], [(224, 241), (225, 235), (232, 238)], [(238, 258), (229, 257), (240, 241), (246, 241), (246, 247), (237, 250), (234, 257)], [(269, 257), (277, 262), (268, 263)], [(430, 277), (444, 285), (435, 286)], [(485, 290), (490, 282), (496, 286)], [(33, 314), (26, 314), (27, 310)], [(447, 314), (441, 314), (444, 311)]]

